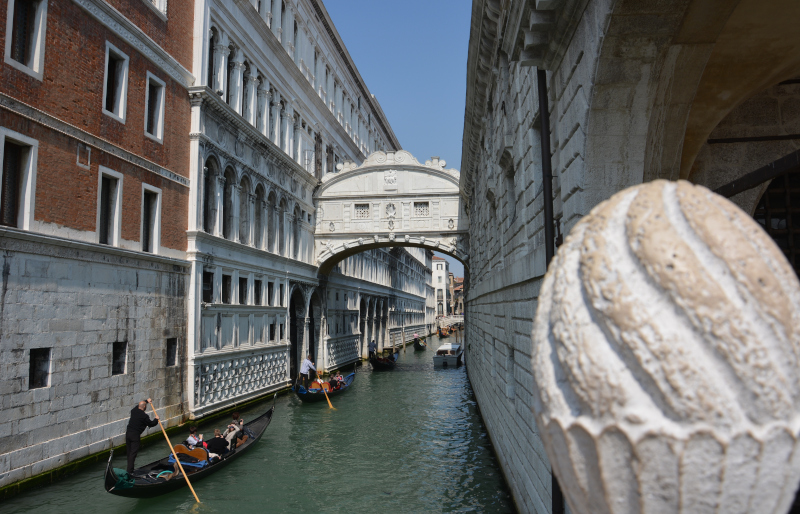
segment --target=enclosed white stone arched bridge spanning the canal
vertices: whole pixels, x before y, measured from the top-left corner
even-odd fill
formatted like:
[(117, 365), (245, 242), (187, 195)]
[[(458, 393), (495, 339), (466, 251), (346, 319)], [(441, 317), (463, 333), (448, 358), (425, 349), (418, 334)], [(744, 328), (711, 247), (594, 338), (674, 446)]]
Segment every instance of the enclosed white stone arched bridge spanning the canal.
[(421, 164), (404, 150), (375, 152), (361, 166), (339, 168), (314, 194), (321, 274), (353, 254), (390, 246), (435, 250), (468, 267), (469, 220), (457, 170), (438, 157)]

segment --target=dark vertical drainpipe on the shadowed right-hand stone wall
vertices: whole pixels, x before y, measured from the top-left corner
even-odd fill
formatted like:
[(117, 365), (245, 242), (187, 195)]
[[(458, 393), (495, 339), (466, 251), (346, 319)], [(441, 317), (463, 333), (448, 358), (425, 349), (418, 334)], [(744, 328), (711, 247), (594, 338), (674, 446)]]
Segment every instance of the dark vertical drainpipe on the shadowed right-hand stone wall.
[[(550, 261), (555, 255), (555, 223), (553, 221), (553, 166), (550, 161), (550, 112), (547, 105), (547, 73), (545, 70), (536, 70), (536, 82), (539, 90), (539, 119), (541, 120), (542, 137), (542, 177), (544, 180), (544, 251), (545, 268), (550, 267)], [(558, 483), (555, 473), (550, 471), (553, 514), (566, 512), (564, 493)]]

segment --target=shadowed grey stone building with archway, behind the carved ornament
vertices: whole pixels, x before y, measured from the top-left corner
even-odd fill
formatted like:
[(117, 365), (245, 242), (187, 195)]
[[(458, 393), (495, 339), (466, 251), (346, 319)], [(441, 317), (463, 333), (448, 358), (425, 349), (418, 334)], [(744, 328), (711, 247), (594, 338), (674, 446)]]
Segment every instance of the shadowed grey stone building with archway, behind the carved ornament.
[[(461, 161), (471, 249), (468, 372), (517, 507), (560, 513), (566, 505), (531, 393), (533, 319), (554, 247), (612, 194), (684, 179), (731, 197), (800, 269), (790, 235), (800, 176), (800, 5), (472, 5)], [(792, 50), (771, 50), (778, 41)], [(597, 376), (581, 380), (605, 387)], [(582, 462), (584, 470), (595, 463)], [(677, 466), (659, 481), (681, 483)], [(642, 493), (633, 509), (647, 510), (652, 497)]]

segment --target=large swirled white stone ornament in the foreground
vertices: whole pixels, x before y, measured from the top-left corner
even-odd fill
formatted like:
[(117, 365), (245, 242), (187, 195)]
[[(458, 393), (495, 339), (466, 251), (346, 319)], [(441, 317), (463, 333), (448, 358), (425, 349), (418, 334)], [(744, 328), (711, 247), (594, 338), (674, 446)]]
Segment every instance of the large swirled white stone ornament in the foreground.
[(572, 512), (787, 512), (800, 482), (800, 283), (688, 182), (617, 193), (542, 284), (533, 410)]

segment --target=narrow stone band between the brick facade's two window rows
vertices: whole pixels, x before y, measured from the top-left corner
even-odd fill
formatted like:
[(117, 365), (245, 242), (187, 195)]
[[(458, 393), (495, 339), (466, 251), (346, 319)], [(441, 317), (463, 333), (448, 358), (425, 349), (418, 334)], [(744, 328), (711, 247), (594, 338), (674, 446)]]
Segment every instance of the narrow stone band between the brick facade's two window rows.
[(114, 157), (121, 159), (123, 161), (127, 161), (134, 166), (138, 166), (140, 168), (144, 168), (156, 175), (160, 175), (167, 180), (171, 180), (173, 182), (177, 182), (182, 186), (189, 187), (189, 179), (178, 175), (175, 172), (172, 172), (158, 164), (148, 161), (143, 157), (139, 157), (128, 150), (107, 141), (105, 139), (99, 138), (86, 132), (83, 129), (80, 129), (74, 125), (70, 125), (67, 122), (61, 121), (55, 116), (52, 116), (44, 111), (40, 111), (39, 109), (28, 105), (24, 102), (17, 100), (11, 96), (8, 96), (4, 93), (0, 93), (0, 109), (6, 109), (18, 116), (22, 116), (27, 118), (31, 121), (34, 121), (42, 126), (45, 126), (51, 130), (55, 130), (56, 132), (60, 132), (65, 136), (71, 137), (73, 139), (77, 139), (85, 143), (88, 146), (96, 148), (102, 152), (107, 154), (113, 155)]

